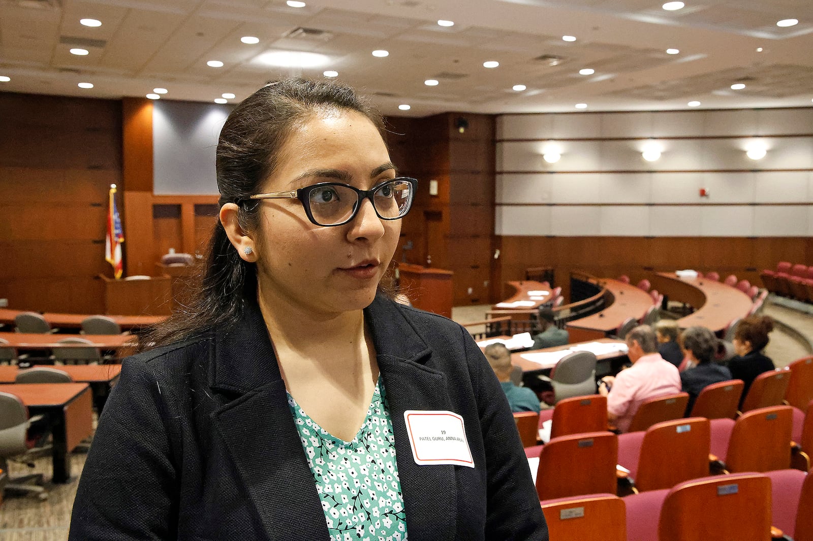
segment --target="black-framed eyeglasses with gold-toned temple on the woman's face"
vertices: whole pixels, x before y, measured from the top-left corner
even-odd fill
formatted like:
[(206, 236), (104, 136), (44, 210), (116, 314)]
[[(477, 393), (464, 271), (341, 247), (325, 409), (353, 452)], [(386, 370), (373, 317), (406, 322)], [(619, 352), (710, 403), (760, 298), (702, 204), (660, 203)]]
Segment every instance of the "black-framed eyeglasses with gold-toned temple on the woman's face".
[(338, 182), (320, 182), (288, 192), (256, 193), (249, 199), (298, 199), (312, 223), (331, 227), (354, 219), (364, 199), (370, 200), (382, 220), (403, 218), (412, 206), (417, 185), (417, 180), (405, 176), (385, 180), (368, 190)]

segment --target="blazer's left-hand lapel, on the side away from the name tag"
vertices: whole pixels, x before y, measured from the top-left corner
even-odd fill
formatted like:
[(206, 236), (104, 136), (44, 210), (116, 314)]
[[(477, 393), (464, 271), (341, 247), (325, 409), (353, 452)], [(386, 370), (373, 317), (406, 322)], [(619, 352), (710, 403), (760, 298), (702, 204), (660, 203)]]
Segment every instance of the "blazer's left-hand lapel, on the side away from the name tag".
[(328, 526), (259, 308), (215, 334), (212, 388), (234, 395), (212, 422), (223, 436), (268, 539), (328, 539)]

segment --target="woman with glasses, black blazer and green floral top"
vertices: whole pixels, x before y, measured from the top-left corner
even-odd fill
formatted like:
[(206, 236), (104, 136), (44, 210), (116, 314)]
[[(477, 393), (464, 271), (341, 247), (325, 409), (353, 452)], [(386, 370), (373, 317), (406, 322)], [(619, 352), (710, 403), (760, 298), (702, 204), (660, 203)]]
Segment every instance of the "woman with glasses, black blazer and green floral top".
[(382, 291), (417, 186), (381, 130), (299, 79), (229, 115), (200, 295), (124, 361), (69, 539), (547, 539), (480, 349)]

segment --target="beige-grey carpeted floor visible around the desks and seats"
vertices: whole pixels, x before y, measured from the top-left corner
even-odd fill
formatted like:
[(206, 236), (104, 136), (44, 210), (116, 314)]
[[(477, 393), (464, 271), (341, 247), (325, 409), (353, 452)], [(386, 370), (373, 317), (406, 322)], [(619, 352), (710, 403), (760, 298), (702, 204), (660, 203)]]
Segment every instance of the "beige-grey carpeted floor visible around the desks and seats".
[[(485, 319), (489, 306), (465, 306), (455, 308), (452, 318), (457, 322), (472, 322)], [(785, 326), (796, 329), (802, 335), (813, 340), (813, 315), (782, 305), (767, 305), (765, 314), (784, 323), (777, 325), (771, 335), (766, 353), (777, 366), (785, 366), (799, 357), (813, 354), (809, 345), (798, 340)], [(37, 500), (36, 496), (7, 495), (0, 505), (0, 541), (64, 541), (67, 539), (67, 528), (71, 519), (73, 499), (79, 474), (85, 464), (85, 453), (72, 454), (71, 483), (65, 485), (49, 484), (50, 494), (46, 501)], [(37, 459), (36, 468), (29, 470), (24, 465), (11, 464), (11, 476), (28, 473), (45, 474), (50, 479), (50, 457)]]

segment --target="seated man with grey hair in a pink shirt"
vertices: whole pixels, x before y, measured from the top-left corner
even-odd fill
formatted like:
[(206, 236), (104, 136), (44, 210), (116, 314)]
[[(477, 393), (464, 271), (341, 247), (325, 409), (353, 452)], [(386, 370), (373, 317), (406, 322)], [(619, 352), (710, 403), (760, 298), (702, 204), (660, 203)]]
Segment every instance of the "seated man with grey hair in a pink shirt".
[(635, 412), (645, 400), (680, 392), (680, 372), (658, 353), (652, 327), (641, 325), (627, 335), (627, 356), (633, 366), (618, 375), (606, 376), (598, 392), (607, 397), (607, 418), (621, 432), (629, 429)]

